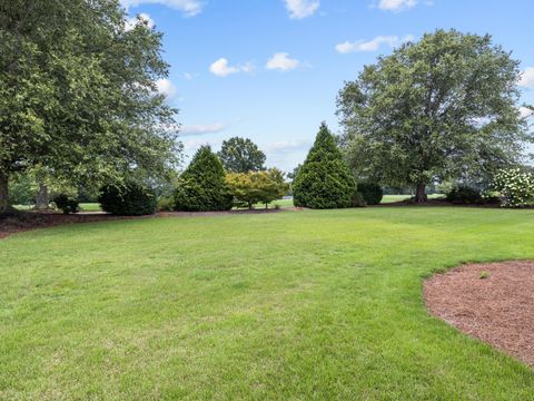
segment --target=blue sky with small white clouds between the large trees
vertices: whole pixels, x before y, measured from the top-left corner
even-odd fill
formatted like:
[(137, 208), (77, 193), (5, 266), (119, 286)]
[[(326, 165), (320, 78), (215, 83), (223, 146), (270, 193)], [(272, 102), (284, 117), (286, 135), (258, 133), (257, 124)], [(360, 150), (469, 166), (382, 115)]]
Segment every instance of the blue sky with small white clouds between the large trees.
[(338, 130), (336, 95), (366, 63), (438, 28), (491, 33), (522, 61), (534, 102), (532, 0), (121, 0), (165, 33), (181, 140), (218, 150), (253, 139), (267, 165), (291, 170), (322, 120)]

